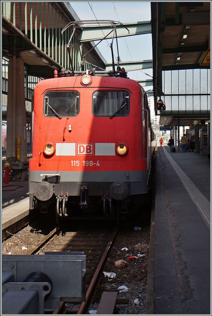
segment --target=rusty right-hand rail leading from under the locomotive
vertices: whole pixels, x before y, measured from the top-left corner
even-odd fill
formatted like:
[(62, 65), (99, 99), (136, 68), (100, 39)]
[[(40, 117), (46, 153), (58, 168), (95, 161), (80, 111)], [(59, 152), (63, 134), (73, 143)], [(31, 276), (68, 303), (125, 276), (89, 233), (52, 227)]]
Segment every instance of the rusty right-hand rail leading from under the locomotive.
[(112, 247), (112, 243), (113, 243), (113, 241), (114, 241), (114, 239), (116, 237), (116, 234), (118, 233), (118, 228), (119, 228), (119, 225), (117, 225), (115, 231), (112, 234), (112, 237), (111, 237), (111, 239), (110, 239), (110, 241), (109, 241), (109, 243), (107, 245), (107, 248), (106, 248), (106, 250), (105, 250), (105, 252), (104, 252), (104, 254), (103, 254), (103, 256), (102, 256), (102, 258), (100, 260), (100, 263), (99, 263), (99, 265), (98, 265), (98, 267), (97, 267), (97, 269), (96, 269), (96, 271), (94, 273), (94, 276), (93, 276), (93, 278), (91, 280), (91, 283), (88, 286), (88, 290), (86, 292), (85, 302), (82, 302), (77, 314), (86, 314), (87, 313), (88, 307), (90, 306), (90, 302), (91, 302), (93, 294), (94, 294), (94, 290), (95, 290), (97, 281), (98, 281), (99, 276), (100, 276), (100, 272), (101, 272), (101, 270), (103, 268), (103, 265), (104, 265), (104, 263), (106, 261), (108, 253), (109, 253), (109, 251), (110, 251), (110, 249)]

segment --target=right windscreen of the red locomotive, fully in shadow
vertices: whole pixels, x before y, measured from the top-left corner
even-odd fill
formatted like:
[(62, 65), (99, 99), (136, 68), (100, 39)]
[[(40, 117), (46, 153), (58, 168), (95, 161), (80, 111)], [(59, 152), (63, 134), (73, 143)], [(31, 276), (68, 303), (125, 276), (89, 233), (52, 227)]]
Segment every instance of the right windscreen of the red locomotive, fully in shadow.
[(92, 111), (95, 116), (127, 116), (130, 113), (130, 95), (126, 91), (96, 91)]

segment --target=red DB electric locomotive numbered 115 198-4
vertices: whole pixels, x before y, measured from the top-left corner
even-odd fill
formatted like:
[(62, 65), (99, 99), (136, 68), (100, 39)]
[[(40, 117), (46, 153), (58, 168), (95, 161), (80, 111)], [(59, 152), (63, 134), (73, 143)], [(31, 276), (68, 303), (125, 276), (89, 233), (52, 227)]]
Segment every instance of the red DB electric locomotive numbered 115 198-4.
[(102, 73), (63, 70), (36, 85), (30, 209), (115, 219), (142, 206), (155, 148), (147, 96), (124, 69)]

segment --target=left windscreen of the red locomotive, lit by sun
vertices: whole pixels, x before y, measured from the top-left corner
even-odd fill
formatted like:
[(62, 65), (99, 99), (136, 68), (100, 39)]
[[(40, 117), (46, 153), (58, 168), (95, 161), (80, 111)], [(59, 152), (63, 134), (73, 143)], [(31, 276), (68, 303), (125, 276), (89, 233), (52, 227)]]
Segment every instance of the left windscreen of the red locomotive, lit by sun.
[(44, 114), (59, 119), (79, 114), (80, 94), (77, 91), (48, 91), (44, 96)]

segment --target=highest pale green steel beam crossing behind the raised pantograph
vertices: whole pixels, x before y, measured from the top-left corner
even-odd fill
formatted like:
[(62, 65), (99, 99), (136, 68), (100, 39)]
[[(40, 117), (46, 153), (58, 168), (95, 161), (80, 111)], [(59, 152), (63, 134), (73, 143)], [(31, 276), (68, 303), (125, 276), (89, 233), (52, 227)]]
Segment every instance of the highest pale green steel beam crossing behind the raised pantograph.
[[(117, 25), (117, 37), (125, 37), (125, 36), (132, 36), (132, 35), (140, 35), (140, 34), (149, 34), (151, 33), (151, 24), (150, 21), (142, 21), (142, 22), (128, 22), (123, 23), (125, 27), (128, 28), (130, 33), (121, 25)], [(112, 31), (111, 26), (86, 26), (83, 27), (82, 32), (79, 34), (79, 41), (80, 42), (90, 42), (94, 40), (101, 40), (104, 38), (108, 33)], [(112, 38), (112, 33), (110, 33), (106, 39)]]

